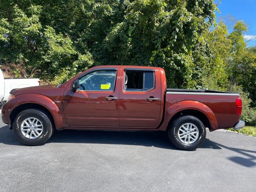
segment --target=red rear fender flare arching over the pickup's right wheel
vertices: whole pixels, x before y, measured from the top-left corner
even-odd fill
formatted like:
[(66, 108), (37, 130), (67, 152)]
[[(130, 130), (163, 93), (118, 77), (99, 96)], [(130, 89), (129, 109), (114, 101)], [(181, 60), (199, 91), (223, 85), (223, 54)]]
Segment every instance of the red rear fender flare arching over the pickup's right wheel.
[[(214, 112), (212, 112), (212, 110), (205, 104), (198, 101), (194, 101), (194, 100), (186, 100), (186, 101), (180, 101), (176, 103), (176, 106), (177, 106), (176, 108), (174, 108), (173, 106), (170, 106), (166, 110), (166, 120), (164, 121), (166, 123), (166, 126), (170, 122), (171, 118), (178, 112), (181, 112), (183, 110), (196, 110), (201, 112), (208, 118), (210, 122), (211, 131), (216, 130), (218, 128), (218, 121), (216, 119), (216, 116), (214, 115)], [(163, 128), (164, 127), (162, 127), (161, 129)]]

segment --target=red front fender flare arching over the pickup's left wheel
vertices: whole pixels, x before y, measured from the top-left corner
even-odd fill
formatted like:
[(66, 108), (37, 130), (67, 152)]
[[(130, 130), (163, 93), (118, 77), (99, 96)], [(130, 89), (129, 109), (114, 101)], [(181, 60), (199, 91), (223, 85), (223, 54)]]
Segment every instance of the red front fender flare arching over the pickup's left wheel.
[(11, 109), (11, 111), (22, 104), (38, 104), (46, 108), (50, 112), (50, 114), (52, 114), (56, 129), (61, 128), (65, 124), (65, 120), (61, 115), (60, 108), (58, 107), (58, 105), (53, 100), (44, 95), (21, 94), (15, 96), (14, 101), (15, 106)]

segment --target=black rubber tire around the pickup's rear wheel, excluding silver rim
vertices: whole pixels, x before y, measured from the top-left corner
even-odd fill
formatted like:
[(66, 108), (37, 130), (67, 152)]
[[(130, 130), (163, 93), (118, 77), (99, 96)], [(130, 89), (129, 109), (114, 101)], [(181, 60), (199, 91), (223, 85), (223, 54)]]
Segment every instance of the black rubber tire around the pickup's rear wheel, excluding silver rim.
[[(179, 128), (186, 123), (194, 124), (198, 128), (199, 132), (198, 138), (191, 144), (185, 144), (178, 138)], [(195, 116), (182, 116), (170, 125), (168, 129), (168, 136), (172, 144), (177, 148), (182, 150), (196, 150), (196, 148), (199, 148), (204, 143), (206, 138), (206, 129), (202, 121)]]

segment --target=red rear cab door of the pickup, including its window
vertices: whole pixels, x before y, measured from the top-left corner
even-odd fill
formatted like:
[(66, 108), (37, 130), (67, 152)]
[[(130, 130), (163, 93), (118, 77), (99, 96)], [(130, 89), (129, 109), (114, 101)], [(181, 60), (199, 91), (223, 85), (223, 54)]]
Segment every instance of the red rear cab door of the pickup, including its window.
[(123, 68), (119, 96), (120, 126), (155, 128), (160, 119), (160, 72)]

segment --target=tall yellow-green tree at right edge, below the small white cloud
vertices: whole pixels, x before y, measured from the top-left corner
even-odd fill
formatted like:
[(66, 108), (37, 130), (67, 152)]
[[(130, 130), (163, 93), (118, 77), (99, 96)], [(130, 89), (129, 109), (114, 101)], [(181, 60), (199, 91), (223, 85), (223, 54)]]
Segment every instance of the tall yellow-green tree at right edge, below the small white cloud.
[(238, 21), (228, 36), (232, 41), (228, 73), (230, 84), (241, 85), (249, 93), (252, 106), (256, 106), (256, 48), (246, 47), (244, 32), (247, 32), (247, 25)]

